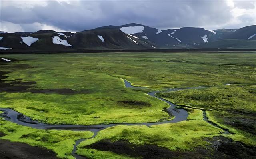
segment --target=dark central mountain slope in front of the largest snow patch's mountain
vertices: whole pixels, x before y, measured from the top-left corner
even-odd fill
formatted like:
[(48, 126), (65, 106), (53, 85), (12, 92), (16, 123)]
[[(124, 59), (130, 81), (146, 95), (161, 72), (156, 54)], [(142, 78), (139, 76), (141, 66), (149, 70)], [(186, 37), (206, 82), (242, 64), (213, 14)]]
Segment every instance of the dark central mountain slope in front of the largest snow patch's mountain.
[[(102, 36), (102, 40), (99, 36)], [(142, 49), (153, 48), (154, 44), (125, 34), (116, 28), (96, 28), (77, 32), (70, 36), (68, 42), (76, 48), (115, 48), (115, 49)]]

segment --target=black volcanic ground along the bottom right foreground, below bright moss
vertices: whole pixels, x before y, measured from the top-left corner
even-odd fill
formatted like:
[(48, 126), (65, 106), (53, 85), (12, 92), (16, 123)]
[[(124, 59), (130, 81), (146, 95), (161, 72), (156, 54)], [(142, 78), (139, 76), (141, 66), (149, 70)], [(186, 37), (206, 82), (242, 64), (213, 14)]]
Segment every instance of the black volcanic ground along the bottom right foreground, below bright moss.
[(253, 159), (256, 156), (256, 147), (246, 146), (223, 136), (208, 139), (211, 143), (208, 147), (199, 147), (193, 151), (170, 151), (156, 145), (134, 145), (127, 141), (109, 140), (99, 141), (84, 148), (97, 149), (100, 151), (112, 151), (117, 154), (142, 159)]

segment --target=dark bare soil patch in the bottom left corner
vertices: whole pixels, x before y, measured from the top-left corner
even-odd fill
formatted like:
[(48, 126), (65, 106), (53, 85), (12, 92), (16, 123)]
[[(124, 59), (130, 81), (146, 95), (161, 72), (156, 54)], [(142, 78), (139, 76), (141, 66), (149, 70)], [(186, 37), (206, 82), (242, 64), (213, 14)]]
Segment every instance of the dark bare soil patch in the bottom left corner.
[(25, 143), (0, 140), (1, 159), (58, 159), (56, 153)]

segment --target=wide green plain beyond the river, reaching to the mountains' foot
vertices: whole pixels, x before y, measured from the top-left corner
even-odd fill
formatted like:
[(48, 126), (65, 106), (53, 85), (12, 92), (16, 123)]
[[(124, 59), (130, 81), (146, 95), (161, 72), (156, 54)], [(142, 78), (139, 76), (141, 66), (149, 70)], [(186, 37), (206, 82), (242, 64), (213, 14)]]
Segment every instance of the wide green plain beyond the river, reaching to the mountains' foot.
[[(11, 71), (6, 80), (35, 81), (29, 89), (78, 91), (74, 94), (1, 93), (1, 107), (13, 108), (45, 123), (154, 122), (168, 119), (168, 114), (162, 111), (168, 105), (145, 94), (152, 89), (255, 83), (255, 54), (94, 53), (4, 57), (19, 60), (1, 65), (2, 71)], [(125, 88), (120, 78), (151, 89)], [(151, 106), (120, 101), (147, 102)]]

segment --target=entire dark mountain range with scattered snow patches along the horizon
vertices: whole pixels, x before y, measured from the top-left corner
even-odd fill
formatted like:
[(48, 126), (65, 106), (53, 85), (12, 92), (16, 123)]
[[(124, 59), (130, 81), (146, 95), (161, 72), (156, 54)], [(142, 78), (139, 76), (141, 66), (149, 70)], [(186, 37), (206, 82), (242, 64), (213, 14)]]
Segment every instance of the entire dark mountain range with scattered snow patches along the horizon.
[[(162, 48), (256, 48), (256, 25), (206, 30), (159, 30), (142, 24), (103, 26), (81, 32), (0, 32), (1, 52), (15, 50), (110, 50)], [(11, 50), (12, 49), (12, 50)]]

